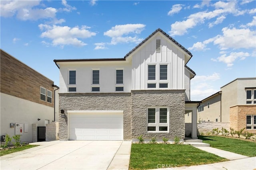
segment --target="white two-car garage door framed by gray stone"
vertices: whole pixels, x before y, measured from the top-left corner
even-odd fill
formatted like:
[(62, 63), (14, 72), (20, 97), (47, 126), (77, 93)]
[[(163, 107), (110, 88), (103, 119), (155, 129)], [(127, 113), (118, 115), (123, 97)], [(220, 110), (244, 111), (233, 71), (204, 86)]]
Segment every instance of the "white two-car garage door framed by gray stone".
[(68, 111), (69, 140), (123, 140), (123, 111)]

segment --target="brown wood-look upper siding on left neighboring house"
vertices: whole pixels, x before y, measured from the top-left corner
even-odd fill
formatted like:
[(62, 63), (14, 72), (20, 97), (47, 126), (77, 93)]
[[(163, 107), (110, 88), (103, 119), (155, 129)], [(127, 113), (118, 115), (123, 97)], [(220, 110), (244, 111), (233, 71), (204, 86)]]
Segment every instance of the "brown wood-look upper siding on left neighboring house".
[[(0, 53), (1, 93), (54, 107), (54, 82), (8, 53)], [(52, 91), (52, 103), (40, 100), (40, 86)]]

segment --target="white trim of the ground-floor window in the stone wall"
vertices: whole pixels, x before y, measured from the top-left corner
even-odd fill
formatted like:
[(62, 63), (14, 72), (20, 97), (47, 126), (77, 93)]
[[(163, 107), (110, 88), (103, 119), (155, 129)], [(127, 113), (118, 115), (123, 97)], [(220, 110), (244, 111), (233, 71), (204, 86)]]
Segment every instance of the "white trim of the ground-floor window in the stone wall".
[[(148, 123), (148, 109), (149, 108), (154, 108), (156, 109), (156, 121), (155, 123)], [(167, 108), (167, 123), (159, 123), (160, 121), (160, 108)], [(169, 107), (164, 107), (164, 106), (160, 106), (160, 107), (147, 107), (147, 132), (148, 133), (169, 133), (169, 117), (170, 117), (170, 110)], [(148, 131), (148, 126), (155, 126), (156, 127), (156, 131)], [(159, 127), (160, 126), (167, 126), (167, 131), (159, 131)]]

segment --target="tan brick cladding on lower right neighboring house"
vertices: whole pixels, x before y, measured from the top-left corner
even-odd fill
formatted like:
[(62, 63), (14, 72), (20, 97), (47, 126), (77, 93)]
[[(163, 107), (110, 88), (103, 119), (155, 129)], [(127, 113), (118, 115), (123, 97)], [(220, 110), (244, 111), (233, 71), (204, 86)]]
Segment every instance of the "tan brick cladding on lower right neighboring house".
[[(230, 107), (230, 127), (235, 130), (246, 128), (246, 115), (256, 115), (256, 105), (237, 105)], [(245, 131), (256, 133), (256, 129), (245, 129)]]

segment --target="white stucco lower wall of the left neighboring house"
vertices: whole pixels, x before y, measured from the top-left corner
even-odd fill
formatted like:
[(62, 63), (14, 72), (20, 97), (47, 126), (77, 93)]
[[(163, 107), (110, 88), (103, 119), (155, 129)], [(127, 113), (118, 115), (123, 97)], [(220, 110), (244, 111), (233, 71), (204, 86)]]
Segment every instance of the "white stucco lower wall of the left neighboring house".
[[(10, 123), (23, 123), (22, 142), (32, 142), (32, 124), (45, 126), (45, 120), (54, 121), (54, 107), (45, 106), (35, 102), (30, 102), (21, 98), (0, 94), (0, 122), (1, 136), (8, 134), (15, 135), (15, 128), (10, 127)], [(40, 119), (38, 121), (37, 119)], [(28, 132), (24, 132), (24, 124), (28, 124)]]

